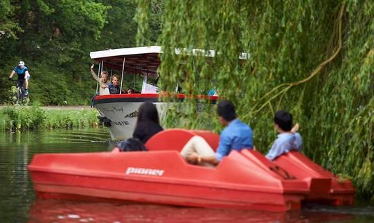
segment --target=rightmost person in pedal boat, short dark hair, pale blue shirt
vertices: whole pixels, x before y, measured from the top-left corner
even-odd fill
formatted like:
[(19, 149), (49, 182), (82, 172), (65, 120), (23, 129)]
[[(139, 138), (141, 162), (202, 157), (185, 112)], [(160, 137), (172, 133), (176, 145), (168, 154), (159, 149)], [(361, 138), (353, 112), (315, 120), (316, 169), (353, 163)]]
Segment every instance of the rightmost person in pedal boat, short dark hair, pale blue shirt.
[(292, 128), (292, 115), (290, 113), (285, 110), (277, 111), (274, 116), (274, 126), (279, 134), (266, 155), (267, 159), (274, 160), (289, 151), (301, 151), (303, 140), (301, 135), (296, 133), (299, 130), (299, 124)]

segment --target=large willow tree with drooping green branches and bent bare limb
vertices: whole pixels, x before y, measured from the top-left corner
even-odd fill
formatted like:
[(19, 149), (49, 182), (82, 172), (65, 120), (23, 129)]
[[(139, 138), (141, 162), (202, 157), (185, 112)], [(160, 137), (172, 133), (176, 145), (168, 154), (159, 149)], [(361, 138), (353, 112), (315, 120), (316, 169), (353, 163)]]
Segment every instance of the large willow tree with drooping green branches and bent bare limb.
[[(139, 1), (137, 10), (138, 43), (152, 37), (148, 18), (155, 1), (147, 2)], [(216, 88), (253, 127), (263, 153), (276, 137), (274, 112), (290, 110), (301, 125), (303, 153), (373, 196), (373, 1), (156, 3), (163, 7), (158, 43), (165, 90), (173, 91), (180, 79), (186, 79), (186, 93)], [(175, 55), (175, 48), (187, 50)], [(185, 57), (192, 48), (215, 50), (215, 57)], [(240, 52), (249, 59), (240, 60)], [(195, 117), (195, 102), (186, 101), (189, 117)], [(215, 120), (215, 113), (204, 118)], [(195, 128), (197, 122), (179, 123)]]

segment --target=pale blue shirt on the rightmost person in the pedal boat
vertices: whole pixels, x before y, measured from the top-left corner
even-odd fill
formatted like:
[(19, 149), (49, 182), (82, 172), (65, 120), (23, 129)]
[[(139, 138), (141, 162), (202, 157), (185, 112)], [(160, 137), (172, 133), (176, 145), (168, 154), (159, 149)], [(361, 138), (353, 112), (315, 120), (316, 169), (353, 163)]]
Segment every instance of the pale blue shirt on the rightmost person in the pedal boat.
[(271, 146), (269, 153), (267, 153), (267, 159), (273, 160), (283, 153), (289, 151), (301, 151), (301, 144), (303, 139), (299, 133), (281, 133), (278, 134), (278, 138), (274, 141)]

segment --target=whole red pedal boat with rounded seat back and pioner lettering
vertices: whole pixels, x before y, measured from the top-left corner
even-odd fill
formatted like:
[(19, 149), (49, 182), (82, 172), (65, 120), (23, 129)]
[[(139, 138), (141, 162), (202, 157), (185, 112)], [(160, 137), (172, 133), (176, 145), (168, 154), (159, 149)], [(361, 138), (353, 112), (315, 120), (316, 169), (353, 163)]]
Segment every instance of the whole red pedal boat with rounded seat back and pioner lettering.
[[(179, 151), (194, 135), (217, 148), (215, 133), (172, 129), (154, 135), (146, 144), (148, 152), (40, 154), (28, 170), (39, 197), (269, 211), (300, 209), (303, 200), (320, 191), (329, 191), (324, 197), (328, 200), (336, 198), (332, 175), (299, 176), (287, 164), (269, 162), (258, 151), (232, 151), (215, 168), (188, 164)], [(353, 201), (355, 190), (346, 186), (344, 200)]]

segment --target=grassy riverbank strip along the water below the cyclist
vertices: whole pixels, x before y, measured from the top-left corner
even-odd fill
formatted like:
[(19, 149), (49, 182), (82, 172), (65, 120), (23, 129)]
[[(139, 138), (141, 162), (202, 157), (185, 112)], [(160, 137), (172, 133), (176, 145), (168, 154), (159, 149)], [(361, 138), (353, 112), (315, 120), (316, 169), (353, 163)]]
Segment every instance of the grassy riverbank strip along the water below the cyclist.
[(89, 106), (1, 106), (0, 130), (98, 127), (97, 116)]

